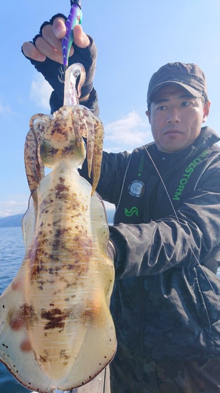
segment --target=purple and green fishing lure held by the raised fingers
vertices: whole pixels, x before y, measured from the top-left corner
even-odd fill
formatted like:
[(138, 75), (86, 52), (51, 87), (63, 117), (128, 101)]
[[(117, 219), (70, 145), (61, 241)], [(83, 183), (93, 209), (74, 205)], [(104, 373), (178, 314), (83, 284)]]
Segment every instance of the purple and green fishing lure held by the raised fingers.
[(68, 58), (71, 45), (73, 43), (73, 28), (82, 22), (82, 1), (70, 0), (71, 9), (66, 20), (66, 35), (62, 40), (64, 70), (60, 69), (61, 77), (58, 76), (60, 82), (64, 83), (66, 68), (68, 67)]

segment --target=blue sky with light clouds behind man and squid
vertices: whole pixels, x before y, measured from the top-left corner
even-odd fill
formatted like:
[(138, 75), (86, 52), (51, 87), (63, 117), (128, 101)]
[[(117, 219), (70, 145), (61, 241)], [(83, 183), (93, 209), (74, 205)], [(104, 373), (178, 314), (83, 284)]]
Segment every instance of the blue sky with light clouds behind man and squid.
[[(212, 102), (207, 125), (219, 130), (219, 0), (82, 0), (83, 28), (98, 48), (94, 86), (105, 126), (105, 149), (132, 151), (152, 140), (145, 115), (152, 74), (167, 62), (197, 63)], [(30, 117), (49, 113), (50, 87), (24, 58), (21, 45), (70, 1), (1, 2), (0, 217), (22, 213), (29, 197), (23, 145)]]

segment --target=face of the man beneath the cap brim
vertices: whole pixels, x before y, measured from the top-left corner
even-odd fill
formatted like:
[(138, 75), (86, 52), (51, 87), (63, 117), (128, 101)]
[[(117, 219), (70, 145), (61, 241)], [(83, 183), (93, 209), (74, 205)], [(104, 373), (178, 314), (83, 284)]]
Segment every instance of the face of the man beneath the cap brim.
[(210, 101), (203, 105), (178, 85), (161, 88), (146, 111), (157, 149), (172, 153), (190, 146), (209, 114)]

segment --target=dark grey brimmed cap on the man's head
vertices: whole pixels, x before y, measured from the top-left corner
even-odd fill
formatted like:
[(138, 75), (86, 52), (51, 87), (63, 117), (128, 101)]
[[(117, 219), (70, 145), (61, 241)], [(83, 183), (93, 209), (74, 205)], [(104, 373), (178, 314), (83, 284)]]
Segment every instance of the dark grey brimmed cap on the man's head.
[(153, 102), (155, 94), (161, 87), (173, 83), (184, 87), (193, 96), (203, 96), (205, 101), (208, 100), (205, 74), (198, 65), (176, 62), (165, 64), (151, 77), (147, 95), (148, 105)]

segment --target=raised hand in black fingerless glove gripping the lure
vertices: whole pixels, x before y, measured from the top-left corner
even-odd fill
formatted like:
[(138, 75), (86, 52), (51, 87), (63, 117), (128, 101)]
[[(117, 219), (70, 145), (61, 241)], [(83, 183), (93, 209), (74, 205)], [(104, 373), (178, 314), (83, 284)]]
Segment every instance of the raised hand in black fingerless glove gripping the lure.
[[(62, 39), (66, 34), (66, 17), (62, 14), (53, 16), (44, 22), (32, 42), (24, 42), (22, 52), (49, 82), (54, 91), (50, 97), (51, 113), (63, 105), (64, 84), (58, 79), (59, 68), (63, 64)], [(73, 30), (74, 42), (70, 49), (68, 64), (82, 63), (86, 70), (85, 84), (81, 90), (80, 103), (98, 115), (98, 100), (93, 88), (97, 49), (93, 39), (76, 25)]]

